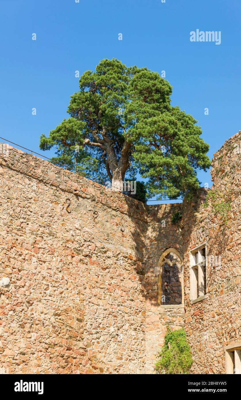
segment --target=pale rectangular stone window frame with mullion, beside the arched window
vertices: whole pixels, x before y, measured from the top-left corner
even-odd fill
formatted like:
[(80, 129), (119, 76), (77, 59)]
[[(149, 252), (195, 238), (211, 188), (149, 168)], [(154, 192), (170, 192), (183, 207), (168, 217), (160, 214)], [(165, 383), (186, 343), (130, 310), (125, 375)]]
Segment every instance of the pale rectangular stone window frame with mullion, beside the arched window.
[[(204, 294), (204, 273), (203, 273), (203, 260), (201, 258), (201, 250), (205, 248), (205, 280), (206, 280), (206, 294)], [(198, 251), (197, 251), (198, 250)], [(193, 253), (198, 253), (200, 257), (200, 261), (196, 263), (196, 257), (194, 258)], [(191, 304), (197, 303), (201, 300), (204, 300), (208, 297), (208, 289), (207, 289), (207, 244), (206, 242), (199, 244), (198, 246), (192, 248), (189, 253), (189, 270), (190, 270), (190, 301)], [(202, 265), (201, 265), (202, 264)], [(200, 279), (201, 277), (201, 279)], [(201, 284), (203, 282), (203, 290)], [(198, 286), (198, 290), (197, 290)], [(200, 290), (200, 294), (199, 294)]]

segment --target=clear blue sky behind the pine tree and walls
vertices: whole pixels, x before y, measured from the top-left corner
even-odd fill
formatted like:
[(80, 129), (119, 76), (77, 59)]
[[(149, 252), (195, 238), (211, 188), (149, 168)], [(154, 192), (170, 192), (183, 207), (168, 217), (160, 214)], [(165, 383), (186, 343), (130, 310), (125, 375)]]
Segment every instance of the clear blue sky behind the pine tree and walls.
[[(68, 116), (75, 70), (115, 57), (166, 71), (172, 105), (198, 120), (212, 158), (241, 129), (240, 16), (240, 0), (0, 0), (0, 136), (40, 152)], [(196, 29), (221, 31), (221, 44), (190, 42)]]

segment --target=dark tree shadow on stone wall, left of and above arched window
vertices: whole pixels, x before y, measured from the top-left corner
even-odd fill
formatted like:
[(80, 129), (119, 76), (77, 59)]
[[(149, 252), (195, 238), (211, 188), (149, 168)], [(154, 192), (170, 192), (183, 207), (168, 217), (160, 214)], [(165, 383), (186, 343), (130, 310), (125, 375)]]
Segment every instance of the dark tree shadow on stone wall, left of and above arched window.
[[(131, 233), (136, 258), (133, 260), (133, 267), (146, 300), (157, 306), (158, 276), (154, 275), (154, 268), (165, 250), (174, 247), (180, 251), (182, 248), (180, 227), (171, 223), (173, 215), (181, 210), (182, 204), (148, 206), (128, 196), (124, 196), (124, 200), (134, 226)], [(138, 214), (140, 218), (137, 218)], [(175, 278), (178, 279), (178, 272)]]

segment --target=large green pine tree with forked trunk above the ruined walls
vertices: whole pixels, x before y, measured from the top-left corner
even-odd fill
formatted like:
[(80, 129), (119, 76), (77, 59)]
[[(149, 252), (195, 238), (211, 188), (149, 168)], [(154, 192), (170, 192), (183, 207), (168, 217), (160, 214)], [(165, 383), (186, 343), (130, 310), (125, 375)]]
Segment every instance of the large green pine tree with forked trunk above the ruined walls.
[(56, 149), (53, 161), (114, 187), (139, 173), (148, 196), (177, 198), (198, 189), (209, 146), (197, 121), (170, 105), (172, 87), (157, 72), (102, 60), (79, 79), (64, 119), (40, 148)]

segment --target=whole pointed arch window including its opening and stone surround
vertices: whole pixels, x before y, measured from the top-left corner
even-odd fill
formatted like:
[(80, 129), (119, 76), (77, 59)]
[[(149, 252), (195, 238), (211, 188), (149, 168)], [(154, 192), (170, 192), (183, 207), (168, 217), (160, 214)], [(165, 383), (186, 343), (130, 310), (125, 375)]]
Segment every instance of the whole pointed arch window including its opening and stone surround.
[(183, 259), (174, 248), (162, 253), (154, 274), (158, 276), (158, 305), (184, 306)]

